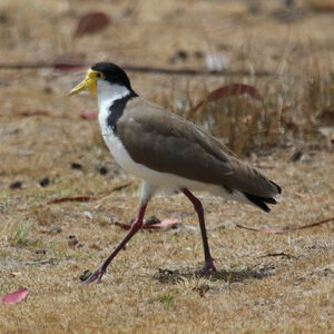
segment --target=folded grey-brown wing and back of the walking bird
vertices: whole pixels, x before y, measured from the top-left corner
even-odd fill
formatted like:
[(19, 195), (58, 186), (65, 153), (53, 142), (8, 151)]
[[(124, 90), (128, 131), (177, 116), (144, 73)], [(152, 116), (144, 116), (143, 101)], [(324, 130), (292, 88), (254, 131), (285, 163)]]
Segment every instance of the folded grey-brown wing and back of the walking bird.
[(258, 169), (235, 158), (203, 128), (144, 99), (128, 102), (117, 136), (136, 163), (151, 169), (259, 197), (279, 193)]

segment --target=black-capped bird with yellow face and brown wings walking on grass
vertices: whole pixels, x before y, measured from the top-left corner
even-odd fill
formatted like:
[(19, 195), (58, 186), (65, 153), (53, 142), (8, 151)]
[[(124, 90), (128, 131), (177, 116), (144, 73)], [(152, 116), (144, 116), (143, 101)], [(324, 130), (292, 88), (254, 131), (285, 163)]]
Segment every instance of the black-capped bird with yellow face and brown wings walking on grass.
[(114, 257), (141, 228), (146, 207), (159, 191), (181, 191), (190, 200), (204, 249), (200, 274), (215, 272), (204, 208), (193, 191), (208, 191), (268, 213), (268, 204), (276, 204), (274, 197), (282, 193), (281, 187), (239, 160), (203, 127), (141, 98), (117, 65), (95, 63), (69, 95), (86, 89), (97, 96), (98, 120), (107, 147), (127, 173), (141, 179), (141, 189), (138, 215), (128, 234), (85, 283), (101, 281)]

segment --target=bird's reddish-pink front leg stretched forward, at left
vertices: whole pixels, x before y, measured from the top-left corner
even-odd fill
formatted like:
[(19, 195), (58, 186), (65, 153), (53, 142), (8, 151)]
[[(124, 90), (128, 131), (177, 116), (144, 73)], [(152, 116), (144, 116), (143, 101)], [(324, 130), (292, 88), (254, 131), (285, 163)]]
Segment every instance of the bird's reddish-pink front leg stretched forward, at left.
[(100, 267), (91, 274), (85, 283), (92, 283), (97, 281), (97, 283), (100, 283), (102, 276), (106, 274), (107, 267), (109, 263), (112, 261), (112, 258), (118, 254), (120, 249), (124, 248), (124, 246), (127, 244), (127, 242), (143, 226), (143, 218), (145, 215), (147, 204), (141, 204), (139, 208), (138, 216), (136, 220), (132, 223), (131, 228), (129, 233), (126, 235), (126, 237), (119, 243), (119, 245), (115, 248), (115, 250), (104, 261), (104, 263), (100, 265)]

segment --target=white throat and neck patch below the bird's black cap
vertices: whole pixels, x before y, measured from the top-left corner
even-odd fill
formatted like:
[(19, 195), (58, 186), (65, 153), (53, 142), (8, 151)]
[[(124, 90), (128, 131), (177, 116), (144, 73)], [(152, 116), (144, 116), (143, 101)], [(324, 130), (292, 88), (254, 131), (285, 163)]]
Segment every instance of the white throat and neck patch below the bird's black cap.
[(109, 108), (114, 101), (130, 94), (129, 89), (120, 85), (111, 85), (106, 80), (98, 80), (96, 86), (99, 109)]

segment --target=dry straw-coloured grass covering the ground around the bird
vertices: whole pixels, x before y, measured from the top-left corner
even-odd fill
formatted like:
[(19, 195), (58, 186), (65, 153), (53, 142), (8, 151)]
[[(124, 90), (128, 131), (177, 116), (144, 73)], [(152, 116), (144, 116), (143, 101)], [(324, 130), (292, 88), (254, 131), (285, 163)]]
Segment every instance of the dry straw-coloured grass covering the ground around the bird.
[[(1, 71), (0, 295), (19, 287), (30, 295), (0, 307), (0, 332), (332, 333), (333, 225), (284, 235), (236, 228), (299, 226), (333, 217), (334, 157), (324, 149), (316, 118), (334, 100), (334, 43), (324, 33), (331, 30), (331, 14), (312, 12), (310, 1), (301, 1), (306, 13), (289, 23), (277, 19), (281, 1), (259, 1), (257, 14), (249, 14), (242, 1), (114, 1), (112, 8), (107, 1), (70, 1), (69, 8), (67, 1), (22, 2), (0, 4), (1, 61), (70, 55), (203, 67), (203, 59), (193, 56), (168, 63), (185, 49), (189, 55), (222, 52), (232, 69), (279, 72), (278, 78), (130, 76), (140, 95), (176, 112), (203, 124), (209, 112), (219, 118), (210, 130), (263, 166), (284, 194), (271, 215), (200, 194), (218, 268), (208, 278), (195, 275), (203, 252), (190, 204), (180, 195), (156, 197), (147, 216), (175, 217), (179, 229), (139, 233), (100, 285), (82, 285), (85, 269), (92, 271), (124, 237), (114, 223), (136, 216), (140, 183), (115, 164), (97, 124), (79, 118), (96, 101), (66, 97), (82, 73)], [(76, 18), (97, 8), (109, 12), (114, 24), (100, 35), (72, 39)], [(256, 87), (263, 104), (230, 98), (200, 115), (189, 112), (207, 91), (229, 82)], [(40, 111), (45, 115), (36, 115)], [(244, 120), (238, 131), (237, 119)], [(294, 163), (296, 150), (302, 158)], [(82, 170), (71, 169), (73, 161)], [(100, 165), (108, 168), (106, 176), (97, 171)], [(40, 187), (46, 176), (50, 185)], [(9, 189), (14, 180), (22, 188)], [(117, 190), (124, 184), (128, 186)], [(91, 200), (47, 204), (84, 195)], [(69, 244), (69, 235), (77, 245)], [(291, 256), (265, 256), (273, 253)]]

